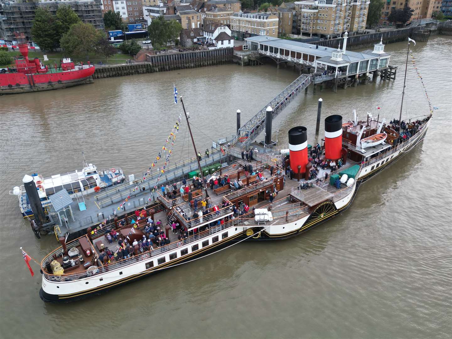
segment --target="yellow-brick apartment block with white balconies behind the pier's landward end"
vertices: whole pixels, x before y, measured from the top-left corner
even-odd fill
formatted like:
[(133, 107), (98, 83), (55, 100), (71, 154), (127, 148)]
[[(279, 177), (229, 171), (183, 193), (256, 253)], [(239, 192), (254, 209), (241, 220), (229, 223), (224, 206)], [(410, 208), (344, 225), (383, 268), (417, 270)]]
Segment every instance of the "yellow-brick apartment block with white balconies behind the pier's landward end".
[(298, 28), (302, 35), (337, 38), (345, 31), (354, 35), (366, 28), (369, 0), (296, 1)]

